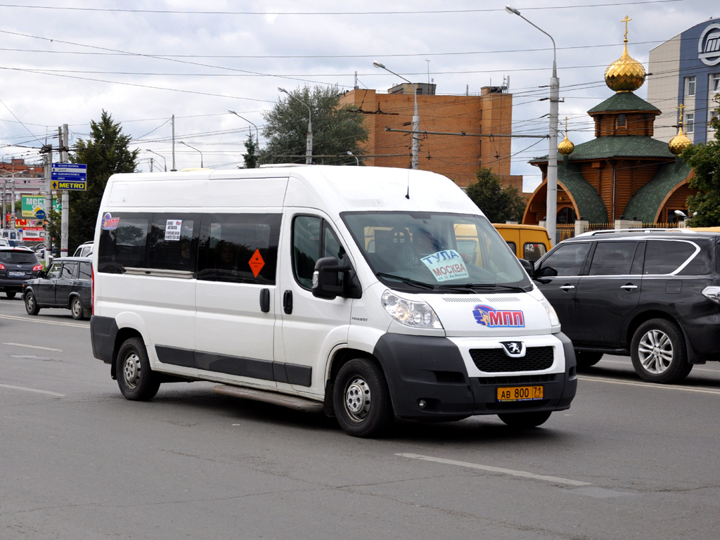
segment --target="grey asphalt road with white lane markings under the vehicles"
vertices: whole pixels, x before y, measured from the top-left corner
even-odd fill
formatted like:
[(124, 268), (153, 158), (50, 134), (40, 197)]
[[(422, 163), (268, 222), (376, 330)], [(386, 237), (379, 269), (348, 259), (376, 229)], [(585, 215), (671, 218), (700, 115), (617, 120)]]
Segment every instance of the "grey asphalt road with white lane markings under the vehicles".
[(174, 383), (125, 400), (89, 322), (0, 300), (1, 539), (685, 539), (720, 530), (720, 365), (642, 382), (608, 356), (570, 410), (333, 420)]

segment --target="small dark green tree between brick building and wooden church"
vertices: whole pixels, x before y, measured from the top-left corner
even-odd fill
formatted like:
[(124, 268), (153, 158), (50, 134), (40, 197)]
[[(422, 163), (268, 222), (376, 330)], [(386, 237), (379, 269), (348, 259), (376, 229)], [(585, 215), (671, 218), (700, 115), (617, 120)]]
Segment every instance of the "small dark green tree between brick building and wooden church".
[(515, 186), (503, 188), (500, 176), (492, 169), (482, 167), (477, 182), (467, 186), (467, 196), (482, 210), (491, 223), (521, 221), (525, 212), (525, 199)]

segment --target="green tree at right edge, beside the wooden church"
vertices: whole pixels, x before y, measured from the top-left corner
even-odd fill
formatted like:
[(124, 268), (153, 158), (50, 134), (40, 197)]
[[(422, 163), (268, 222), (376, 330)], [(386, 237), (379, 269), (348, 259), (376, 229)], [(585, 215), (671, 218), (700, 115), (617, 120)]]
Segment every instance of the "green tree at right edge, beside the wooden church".
[[(714, 101), (720, 104), (720, 94)], [(715, 110), (720, 113), (720, 106)], [(680, 158), (695, 171), (690, 187), (698, 193), (688, 197), (688, 209), (693, 216), (688, 225), (693, 227), (716, 227), (720, 225), (720, 120), (714, 117), (709, 122), (715, 130), (713, 140), (706, 144), (691, 145), (685, 148)], [(697, 215), (695, 212), (698, 212)]]

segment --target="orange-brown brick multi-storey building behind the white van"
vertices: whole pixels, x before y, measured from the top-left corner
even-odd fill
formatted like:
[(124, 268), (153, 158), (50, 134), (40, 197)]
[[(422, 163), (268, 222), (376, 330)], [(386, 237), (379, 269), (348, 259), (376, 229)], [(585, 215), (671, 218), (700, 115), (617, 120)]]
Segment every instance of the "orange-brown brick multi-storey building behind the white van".
[[(513, 96), (505, 87), (485, 86), (479, 96), (455, 96), (436, 94), (435, 84), (415, 86), (423, 132), (418, 168), (443, 174), (462, 187), (477, 181), (481, 167), (491, 168), (505, 186), (522, 192), (522, 176), (510, 176), (511, 139), (507, 135), (513, 121)], [(356, 88), (341, 96), (341, 105), (353, 105), (364, 115), (368, 130), (364, 163), (410, 167), (414, 103), (412, 84), (398, 84), (387, 94)]]

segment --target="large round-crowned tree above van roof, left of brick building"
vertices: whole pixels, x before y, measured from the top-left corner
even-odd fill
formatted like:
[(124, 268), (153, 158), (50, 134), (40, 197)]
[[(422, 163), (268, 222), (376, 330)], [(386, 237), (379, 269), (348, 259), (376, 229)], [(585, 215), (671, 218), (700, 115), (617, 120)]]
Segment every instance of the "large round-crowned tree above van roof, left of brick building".
[[(292, 97), (291, 97), (292, 96)], [(302, 103), (301, 103), (302, 102)], [(263, 135), (267, 140), (262, 152), (263, 163), (305, 163), (307, 148), (307, 116), (312, 111), (313, 163), (355, 163), (364, 150), (360, 144), (367, 140), (363, 117), (354, 107), (340, 107), (336, 86), (304, 86), (289, 91), (285, 98), (264, 113)], [(307, 107), (305, 104), (307, 104)], [(302, 156), (282, 158), (278, 156)], [(334, 157), (343, 156), (343, 157)]]

